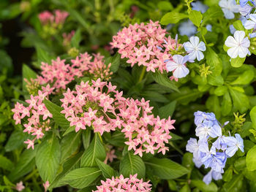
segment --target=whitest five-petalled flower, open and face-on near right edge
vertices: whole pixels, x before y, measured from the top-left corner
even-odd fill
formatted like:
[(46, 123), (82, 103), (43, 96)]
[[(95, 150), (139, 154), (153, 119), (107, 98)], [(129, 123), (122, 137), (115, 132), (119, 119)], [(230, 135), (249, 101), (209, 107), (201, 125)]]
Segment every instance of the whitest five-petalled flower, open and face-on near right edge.
[(249, 53), (248, 47), (250, 42), (248, 37), (244, 38), (244, 36), (244, 31), (236, 31), (234, 37), (227, 37), (225, 45), (230, 47), (230, 49), (227, 50), (227, 55), (229, 55), (230, 58), (237, 58), (237, 56), (240, 58), (245, 58)]

